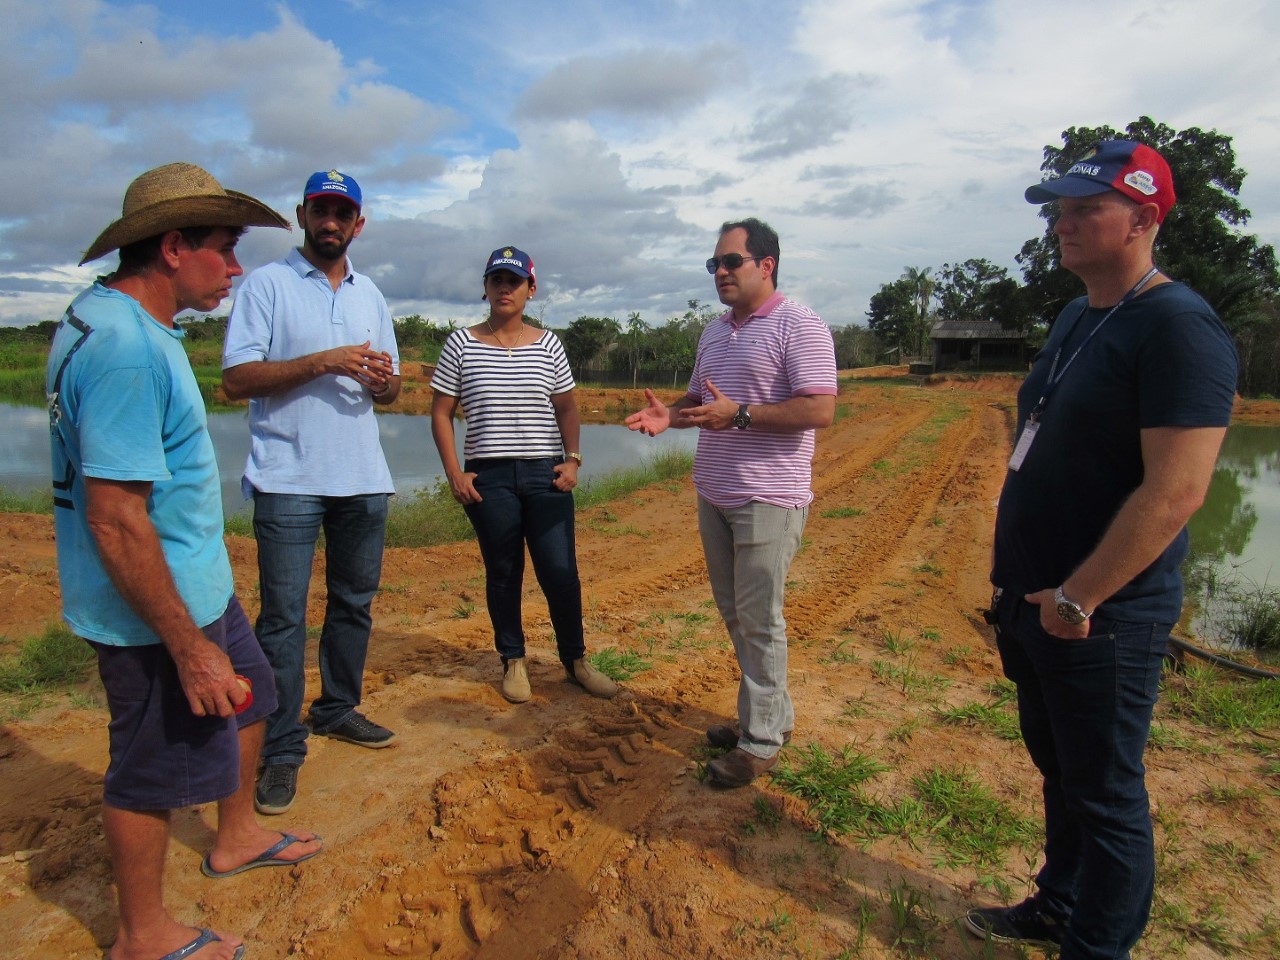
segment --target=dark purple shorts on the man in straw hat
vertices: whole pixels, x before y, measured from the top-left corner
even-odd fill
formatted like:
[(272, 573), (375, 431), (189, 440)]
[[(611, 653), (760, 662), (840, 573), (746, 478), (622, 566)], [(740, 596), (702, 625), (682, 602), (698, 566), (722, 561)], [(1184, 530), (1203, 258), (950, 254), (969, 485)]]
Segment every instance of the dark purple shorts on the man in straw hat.
[(239, 788), (239, 728), (275, 710), (275, 677), (237, 598), (204, 632), (253, 685), (253, 704), (244, 713), (192, 713), (164, 644), (88, 641), (111, 712), (111, 763), (102, 791), (108, 805), (173, 810), (221, 800)]

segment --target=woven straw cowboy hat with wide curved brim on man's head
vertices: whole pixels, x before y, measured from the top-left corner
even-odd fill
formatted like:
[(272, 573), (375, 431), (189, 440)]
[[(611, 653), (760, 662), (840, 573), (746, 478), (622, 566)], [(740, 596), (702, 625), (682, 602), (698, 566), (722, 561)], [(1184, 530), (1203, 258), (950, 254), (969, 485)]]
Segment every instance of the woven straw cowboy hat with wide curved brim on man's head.
[(195, 164), (165, 164), (138, 177), (124, 193), (119, 220), (84, 251), (81, 264), (131, 243), (184, 227), (283, 227), (289, 221), (247, 193), (223, 189)]

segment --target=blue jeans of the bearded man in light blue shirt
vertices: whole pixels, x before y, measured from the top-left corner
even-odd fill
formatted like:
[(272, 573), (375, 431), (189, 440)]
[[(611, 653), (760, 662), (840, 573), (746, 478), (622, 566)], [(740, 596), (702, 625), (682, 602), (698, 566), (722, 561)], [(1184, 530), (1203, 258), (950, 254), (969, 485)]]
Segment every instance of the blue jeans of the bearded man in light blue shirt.
[(266, 719), (262, 763), (300, 764), (307, 755), (302, 724), (307, 590), (316, 539), (324, 529), (324, 627), (320, 631), (320, 696), (311, 703), (317, 733), (339, 726), (360, 705), (370, 608), (383, 572), (387, 494), (311, 497), (255, 493), (253, 534), (262, 607), (257, 641), (275, 671), (279, 705)]

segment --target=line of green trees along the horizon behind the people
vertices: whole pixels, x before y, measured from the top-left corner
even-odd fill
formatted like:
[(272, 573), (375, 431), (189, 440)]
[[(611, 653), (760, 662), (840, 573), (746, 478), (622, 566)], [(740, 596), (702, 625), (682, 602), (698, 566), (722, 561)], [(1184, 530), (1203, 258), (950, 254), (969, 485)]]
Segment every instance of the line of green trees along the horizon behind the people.
[[(1240, 356), (1240, 393), (1280, 396), (1280, 273), (1275, 250), (1245, 233), (1249, 211), (1239, 192), (1245, 172), (1236, 165), (1231, 138), (1192, 127), (1175, 131), (1142, 116), (1120, 133), (1111, 127), (1071, 127), (1061, 146), (1046, 146), (1041, 170), (1061, 175), (1101, 140), (1142, 141), (1161, 154), (1174, 172), (1178, 204), (1160, 228), (1156, 262), (1184, 280), (1217, 311)], [(870, 297), (867, 325), (832, 328), (841, 369), (910, 357), (928, 358), (931, 332), (938, 321), (995, 321), (1027, 335), (1034, 349), (1057, 314), (1084, 287), (1059, 265), (1053, 237), (1056, 205), (1041, 209), (1044, 230), (1015, 255), (1021, 278), (982, 257), (940, 268), (909, 266)], [(684, 387), (692, 370), (698, 338), (719, 315), (719, 305), (698, 300), (663, 321), (649, 324), (639, 312), (626, 320), (579, 316), (554, 330), (580, 379), (607, 376), (613, 383), (671, 383)], [(536, 317), (525, 323), (541, 326)], [(457, 329), (413, 314), (394, 321), (401, 351), (434, 362), (445, 338)], [(15, 329), (0, 328), (0, 343), (52, 337), (54, 321)], [(188, 342), (220, 342), (225, 317), (184, 323)]]

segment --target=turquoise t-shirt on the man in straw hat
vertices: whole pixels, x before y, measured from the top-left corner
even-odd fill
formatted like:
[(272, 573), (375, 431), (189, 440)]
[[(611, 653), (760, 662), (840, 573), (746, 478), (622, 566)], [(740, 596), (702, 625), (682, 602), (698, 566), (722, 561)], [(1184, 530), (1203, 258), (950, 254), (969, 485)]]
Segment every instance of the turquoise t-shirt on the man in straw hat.
[(234, 591), (218, 461), (182, 337), (132, 297), (95, 283), (67, 308), (49, 353), (63, 618), (97, 643), (133, 646), (160, 637), (102, 567), (84, 513), (86, 476), (151, 481), (147, 512), (198, 626), (218, 620)]

